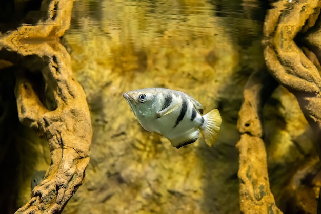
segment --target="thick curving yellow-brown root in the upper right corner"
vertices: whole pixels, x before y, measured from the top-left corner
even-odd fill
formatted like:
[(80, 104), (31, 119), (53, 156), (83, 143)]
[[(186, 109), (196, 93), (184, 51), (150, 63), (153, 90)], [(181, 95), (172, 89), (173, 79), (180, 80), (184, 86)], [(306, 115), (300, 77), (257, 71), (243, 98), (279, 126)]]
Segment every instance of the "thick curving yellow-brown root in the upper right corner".
[[(293, 4), (293, 9), (287, 15), (282, 13), (285, 4), (286, 1), (275, 3), (275, 9), (269, 11), (267, 15), (264, 28), (264, 55), (271, 75), (297, 98), (314, 132), (314, 146), (320, 156), (321, 77), (314, 63), (293, 40), (306, 20), (315, 14), (315, 8), (320, 6), (320, 2), (300, 1)], [(278, 23), (275, 20), (278, 20)]]

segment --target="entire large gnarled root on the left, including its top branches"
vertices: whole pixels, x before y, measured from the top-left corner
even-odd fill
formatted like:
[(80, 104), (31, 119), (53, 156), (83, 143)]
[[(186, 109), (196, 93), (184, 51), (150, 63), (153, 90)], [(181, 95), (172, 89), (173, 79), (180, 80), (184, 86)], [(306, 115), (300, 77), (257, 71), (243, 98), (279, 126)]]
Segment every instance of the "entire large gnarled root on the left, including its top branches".
[[(47, 1), (44, 1), (45, 4)], [(85, 93), (73, 78), (70, 56), (59, 37), (70, 25), (73, 1), (51, 1), (48, 18), (0, 35), (1, 57), (18, 67), (15, 96), (19, 120), (49, 143), (51, 165), (29, 202), (16, 213), (61, 213), (82, 185), (92, 129)], [(41, 82), (25, 75), (40, 70)]]

